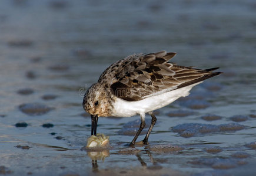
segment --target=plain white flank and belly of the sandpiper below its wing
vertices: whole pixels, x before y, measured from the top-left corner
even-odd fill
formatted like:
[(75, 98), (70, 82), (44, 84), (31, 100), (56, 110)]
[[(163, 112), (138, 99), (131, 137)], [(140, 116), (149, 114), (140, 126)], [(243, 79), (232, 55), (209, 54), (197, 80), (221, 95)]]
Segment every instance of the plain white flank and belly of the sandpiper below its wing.
[(162, 94), (157, 94), (155, 96), (147, 97), (146, 99), (139, 101), (126, 101), (117, 98), (114, 103), (114, 109), (112, 110), (112, 116), (131, 117), (135, 116), (136, 114), (140, 114), (142, 117), (144, 117), (145, 113), (148, 113), (149, 111), (167, 106), (168, 104), (177, 100), (179, 97), (188, 96), (192, 87), (200, 83), (202, 82), (191, 84), (189, 86)]

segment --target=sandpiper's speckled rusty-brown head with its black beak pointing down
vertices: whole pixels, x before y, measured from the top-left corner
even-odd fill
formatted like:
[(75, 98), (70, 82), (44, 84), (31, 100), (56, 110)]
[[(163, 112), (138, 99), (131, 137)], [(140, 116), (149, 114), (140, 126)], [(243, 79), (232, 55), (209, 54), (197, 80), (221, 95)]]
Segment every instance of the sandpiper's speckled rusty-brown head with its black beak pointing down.
[(111, 100), (108, 90), (104, 89), (99, 83), (92, 84), (84, 95), (82, 103), (84, 110), (91, 114), (92, 133), (97, 134), (98, 117), (111, 116)]

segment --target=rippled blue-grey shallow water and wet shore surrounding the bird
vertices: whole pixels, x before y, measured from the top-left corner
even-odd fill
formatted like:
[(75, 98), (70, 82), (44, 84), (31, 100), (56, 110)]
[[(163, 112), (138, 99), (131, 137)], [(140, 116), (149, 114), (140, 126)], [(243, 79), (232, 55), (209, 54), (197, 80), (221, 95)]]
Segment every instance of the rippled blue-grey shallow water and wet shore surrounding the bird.
[[(1, 1), (0, 173), (254, 175), (255, 7), (254, 1)], [(91, 133), (85, 89), (116, 60), (158, 50), (177, 52), (179, 65), (221, 67), (224, 74), (157, 110), (148, 145), (126, 147), (138, 116), (109, 117), (99, 118), (98, 132), (111, 147), (84, 148)]]

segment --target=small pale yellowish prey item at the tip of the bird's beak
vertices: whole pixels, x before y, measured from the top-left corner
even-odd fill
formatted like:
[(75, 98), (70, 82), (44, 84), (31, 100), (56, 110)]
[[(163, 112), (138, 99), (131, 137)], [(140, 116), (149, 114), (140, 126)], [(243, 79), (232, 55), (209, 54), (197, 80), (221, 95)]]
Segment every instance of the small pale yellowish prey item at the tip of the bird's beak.
[(97, 136), (92, 135), (87, 140), (87, 148), (91, 147), (105, 147), (109, 144), (109, 136), (98, 133)]

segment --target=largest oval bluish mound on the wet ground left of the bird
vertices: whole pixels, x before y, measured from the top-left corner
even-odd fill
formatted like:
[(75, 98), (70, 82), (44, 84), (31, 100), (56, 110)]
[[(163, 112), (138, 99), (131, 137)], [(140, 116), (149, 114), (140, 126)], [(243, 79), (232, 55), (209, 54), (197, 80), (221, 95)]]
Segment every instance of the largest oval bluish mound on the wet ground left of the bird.
[(48, 113), (52, 110), (52, 108), (41, 103), (28, 103), (21, 104), (19, 106), (19, 110), (21, 110), (25, 114), (28, 114), (29, 116), (40, 116)]

